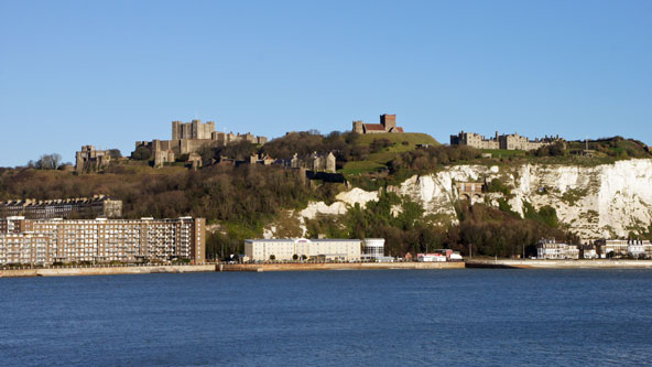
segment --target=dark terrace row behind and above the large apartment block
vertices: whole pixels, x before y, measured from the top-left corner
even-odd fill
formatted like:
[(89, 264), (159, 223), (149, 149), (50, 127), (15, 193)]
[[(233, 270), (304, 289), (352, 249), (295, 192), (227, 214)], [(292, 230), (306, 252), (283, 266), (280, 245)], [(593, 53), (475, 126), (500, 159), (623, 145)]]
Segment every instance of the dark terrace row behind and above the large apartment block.
[(48, 201), (25, 198), (0, 203), (0, 218), (11, 216), (24, 216), (28, 219), (119, 218), (122, 216), (122, 201), (112, 199), (106, 195), (95, 195)]

